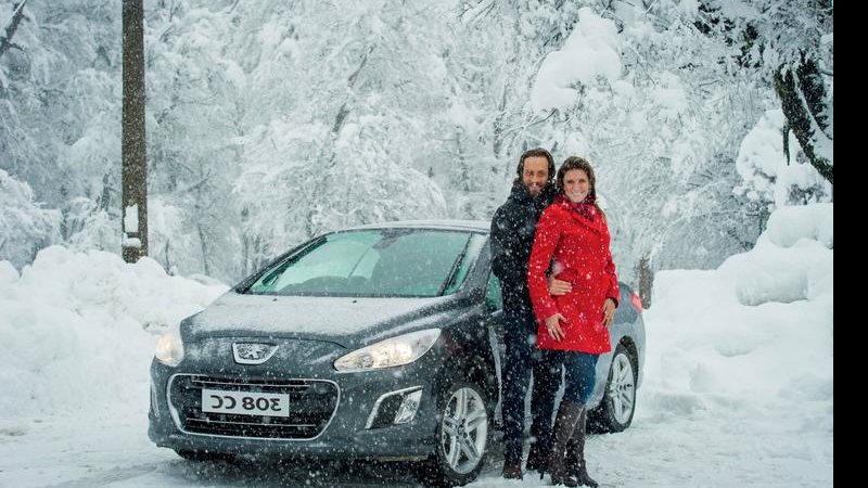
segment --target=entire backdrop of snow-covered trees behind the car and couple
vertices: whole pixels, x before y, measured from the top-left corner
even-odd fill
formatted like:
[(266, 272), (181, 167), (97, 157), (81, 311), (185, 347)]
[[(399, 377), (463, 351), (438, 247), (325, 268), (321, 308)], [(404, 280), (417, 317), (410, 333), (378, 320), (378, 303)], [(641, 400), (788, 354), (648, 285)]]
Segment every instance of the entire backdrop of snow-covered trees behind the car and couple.
[[(151, 254), (234, 281), (340, 226), (487, 219), (541, 145), (598, 168), (624, 279), (641, 260), (715, 266), (750, 248), (778, 188), (829, 197), (781, 177), (806, 167), (797, 133), (773, 144), (791, 163), (774, 184), (756, 143), (787, 111), (773, 66), (817, 60), (831, 101), (830, 18), (806, 2), (145, 2)], [(0, 56), (0, 168), (61, 210), (64, 242), (112, 251), (120, 10), (22, 12)], [(831, 141), (831, 103), (812, 97)]]

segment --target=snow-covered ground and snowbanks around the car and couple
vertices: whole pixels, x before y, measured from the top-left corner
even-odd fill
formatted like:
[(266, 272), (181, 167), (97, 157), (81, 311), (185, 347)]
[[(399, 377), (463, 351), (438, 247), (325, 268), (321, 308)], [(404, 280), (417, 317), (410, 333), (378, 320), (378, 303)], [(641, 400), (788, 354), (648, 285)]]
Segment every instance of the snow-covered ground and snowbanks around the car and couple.
[[(833, 484), (833, 210), (784, 207), (754, 249), (664, 271), (633, 426), (591, 436), (603, 486)], [(408, 466), (190, 463), (146, 437), (157, 334), (226, 286), (155, 261), (43, 249), (0, 261), (0, 486), (414, 486)], [(474, 486), (499, 477), (495, 444)]]

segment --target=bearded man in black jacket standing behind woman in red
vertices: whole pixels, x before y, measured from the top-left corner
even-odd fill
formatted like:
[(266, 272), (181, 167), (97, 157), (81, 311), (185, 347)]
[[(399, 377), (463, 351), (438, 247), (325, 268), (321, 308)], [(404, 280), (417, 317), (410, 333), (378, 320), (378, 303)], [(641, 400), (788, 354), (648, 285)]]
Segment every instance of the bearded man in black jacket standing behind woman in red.
[[(560, 369), (549, 368), (536, 347), (537, 321), (527, 288), (527, 260), (534, 244), (536, 222), (554, 197), (554, 160), (541, 149), (519, 159), (512, 192), (492, 219), (493, 271), (503, 292), (503, 477), (522, 478), (524, 398), (533, 371), (531, 399), (531, 453), (527, 470), (542, 473), (548, 464), (551, 416), (560, 384)], [(570, 291), (570, 284), (554, 280), (553, 295)]]

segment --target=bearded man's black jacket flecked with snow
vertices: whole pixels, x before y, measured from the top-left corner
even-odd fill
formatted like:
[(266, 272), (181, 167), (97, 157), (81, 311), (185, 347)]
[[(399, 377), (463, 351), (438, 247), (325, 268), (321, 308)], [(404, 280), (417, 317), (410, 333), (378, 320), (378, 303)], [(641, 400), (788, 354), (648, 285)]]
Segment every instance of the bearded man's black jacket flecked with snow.
[(492, 268), (500, 279), (507, 312), (531, 313), (533, 310), (527, 288), (527, 261), (536, 222), (553, 196), (552, 184), (547, 184), (539, 196), (532, 196), (521, 181), (515, 181), (509, 198), (492, 219)]

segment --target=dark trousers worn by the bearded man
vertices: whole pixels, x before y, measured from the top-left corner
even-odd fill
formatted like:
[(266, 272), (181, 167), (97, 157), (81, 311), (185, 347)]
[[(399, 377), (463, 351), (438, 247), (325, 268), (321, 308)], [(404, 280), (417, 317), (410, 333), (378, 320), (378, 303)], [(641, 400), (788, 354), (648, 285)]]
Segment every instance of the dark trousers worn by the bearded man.
[(521, 461), (524, 433), (524, 399), (534, 376), (531, 398), (531, 435), (537, 442), (551, 441), (551, 418), (554, 396), (561, 381), (561, 365), (552, 367), (548, 355), (536, 347), (537, 321), (531, 311), (503, 310), (503, 343), (506, 356), (502, 365), (503, 402), (503, 459)]

